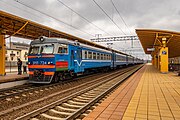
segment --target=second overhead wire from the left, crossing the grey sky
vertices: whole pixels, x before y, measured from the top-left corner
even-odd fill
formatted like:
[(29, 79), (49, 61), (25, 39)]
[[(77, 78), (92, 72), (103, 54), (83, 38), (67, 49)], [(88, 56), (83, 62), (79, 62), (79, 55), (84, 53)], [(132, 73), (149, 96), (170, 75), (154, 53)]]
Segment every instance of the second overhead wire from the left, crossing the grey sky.
[(69, 7), (68, 5), (66, 5), (65, 3), (63, 3), (60, 0), (57, 0), (59, 3), (63, 4), (65, 7), (67, 7), (68, 9), (70, 9), (71, 11), (73, 11), (74, 13), (76, 13), (78, 16), (80, 16), (81, 18), (83, 18), (85, 21), (87, 21), (88, 23), (92, 24), (93, 26), (95, 26), (96, 28), (98, 28), (99, 30), (103, 31), (104, 33), (112, 36), (111, 34), (109, 34), (108, 32), (104, 31), (103, 29), (101, 29), (100, 27), (98, 27), (97, 25), (95, 25), (94, 23), (92, 23), (91, 21), (89, 21), (87, 18), (85, 18), (84, 16), (82, 16), (81, 14), (79, 14), (78, 12), (76, 12), (75, 10), (73, 10), (71, 7)]

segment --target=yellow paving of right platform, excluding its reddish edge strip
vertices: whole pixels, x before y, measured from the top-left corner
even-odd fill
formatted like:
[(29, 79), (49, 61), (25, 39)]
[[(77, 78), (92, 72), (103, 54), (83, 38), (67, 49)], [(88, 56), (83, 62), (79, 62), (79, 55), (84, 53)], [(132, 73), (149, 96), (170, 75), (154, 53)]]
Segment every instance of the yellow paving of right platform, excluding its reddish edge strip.
[(147, 65), (123, 120), (180, 120), (180, 77)]

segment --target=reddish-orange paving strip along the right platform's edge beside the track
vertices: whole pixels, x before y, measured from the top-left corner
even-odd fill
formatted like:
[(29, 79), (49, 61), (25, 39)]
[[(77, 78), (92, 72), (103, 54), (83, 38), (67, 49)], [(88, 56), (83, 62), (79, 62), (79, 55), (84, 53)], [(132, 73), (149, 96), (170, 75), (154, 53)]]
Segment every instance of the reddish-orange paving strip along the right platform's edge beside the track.
[(120, 120), (133, 96), (146, 66), (127, 79), (83, 120)]

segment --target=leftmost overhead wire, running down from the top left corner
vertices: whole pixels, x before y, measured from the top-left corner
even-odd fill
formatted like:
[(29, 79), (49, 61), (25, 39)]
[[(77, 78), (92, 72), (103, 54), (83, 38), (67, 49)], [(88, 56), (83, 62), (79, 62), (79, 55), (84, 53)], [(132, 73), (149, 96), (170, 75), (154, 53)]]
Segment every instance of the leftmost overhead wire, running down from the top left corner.
[(72, 26), (72, 25), (70, 25), (70, 24), (68, 24), (68, 23), (66, 23), (66, 22), (64, 22), (64, 21), (62, 21), (62, 20), (60, 20), (60, 19), (58, 19), (58, 18), (55, 18), (55, 17), (53, 17), (53, 16), (51, 16), (51, 15), (45, 13), (45, 12), (42, 12), (42, 11), (40, 11), (40, 10), (38, 10), (38, 9), (35, 9), (35, 8), (29, 6), (29, 5), (26, 5), (25, 3), (20, 2), (19, 0), (14, 0), (14, 1), (17, 2), (17, 3), (19, 3), (19, 4), (21, 4), (21, 5), (23, 5), (23, 6), (28, 7), (28, 8), (30, 8), (30, 9), (34, 10), (34, 11), (37, 11), (37, 12), (39, 12), (39, 13), (45, 15), (45, 16), (48, 16), (48, 17), (50, 17), (50, 18), (52, 18), (52, 19), (54, 19), (54, 20), (56, 20), (56, 21), (59, 21), (59, 22), (65, 24), (65, 25), (67, 25), (67, 26), (70, 26), (70, 27), (72, 27), (72, 28), (74, 28), (74, 29), (76, 29), (76, 30), (78, 30), (78, 31), (81, 31), (81, 32), (83, 32), (83, 33), (86, 33), (86, 34), (94, 37), (94, 35), (92, 35), (92, 34), (90, 34), (90, 33), (88, 33), (88, 32), (82, 31), (82, 30), (78, 29), (78, 28), (75, 27), (75, 26)]

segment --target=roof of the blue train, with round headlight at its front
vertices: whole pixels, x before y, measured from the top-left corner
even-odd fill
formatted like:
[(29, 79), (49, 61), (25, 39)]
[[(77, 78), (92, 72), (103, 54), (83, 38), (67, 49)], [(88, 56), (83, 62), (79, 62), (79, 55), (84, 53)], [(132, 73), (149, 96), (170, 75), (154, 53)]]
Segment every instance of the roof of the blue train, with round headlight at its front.
[[(86, 41), (86, 42), (85, 42)], [(123, 55), (128, 55), (128, 54), (125, 54), (123, 52), (120, 52), (118, 50), (114, 50), (114, 49), (111, 49), (111, 48), (107, 48), (105, 46), (102, 46), (102, 45), (99, 45), (99, 44), (96, 44), (96, 43), (93, 43), (93, 42), (90, 42), (90, 41), (87, 41), (87, 40), (84, 40), (84, 42), (82, 41), (78, 41), (78, 40), (69, 40), (69, 39), (65, 39), (65, 38), (47, 38), (47, 37), (40, 37), (39, 39), (36, 39), (34, 41), (31, 42), (31, 45), (35, 45), (35, 44), (42, 44), (42, 43), (64, 43), (64, 44), (71, 44), (71, 45), (76, 45), (76, 44), (84, 44), (82, 46), (86, 46), (86, 45), (89, 45), (91, 47), (96, 47), (96, 48), (100, 48), (100, 49), (103, 49), (103, 50), (107, 50), (107, 51), (113, 51), (113, 52), (116, 52), (116, 53), (119, 53), (119, 54), (123, 54)], [(130, 55), (128, 55), (130, 56)]]

